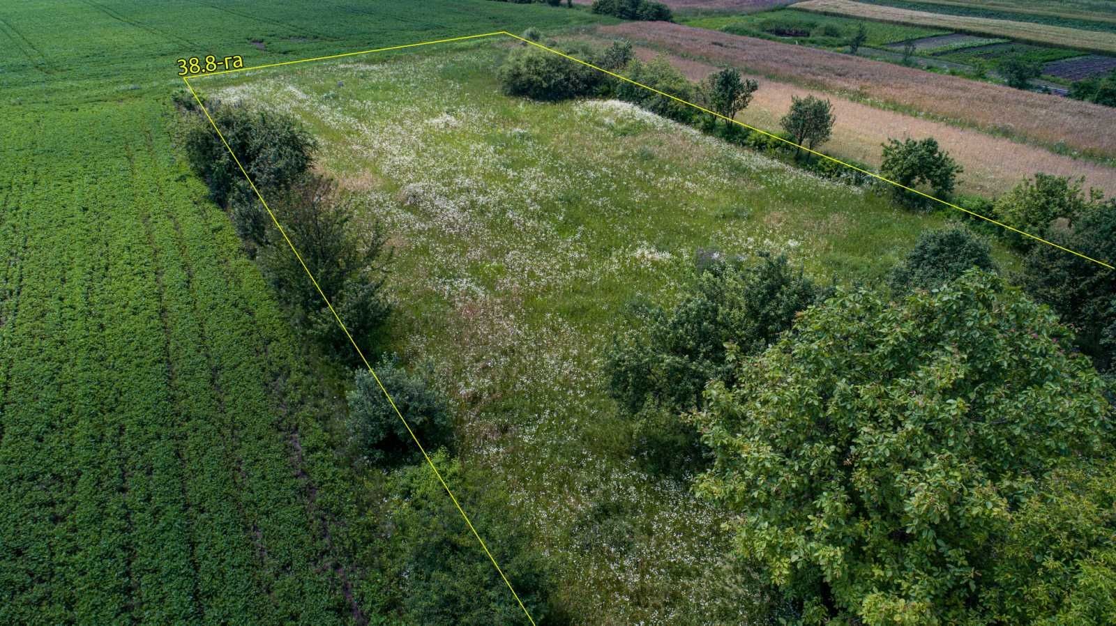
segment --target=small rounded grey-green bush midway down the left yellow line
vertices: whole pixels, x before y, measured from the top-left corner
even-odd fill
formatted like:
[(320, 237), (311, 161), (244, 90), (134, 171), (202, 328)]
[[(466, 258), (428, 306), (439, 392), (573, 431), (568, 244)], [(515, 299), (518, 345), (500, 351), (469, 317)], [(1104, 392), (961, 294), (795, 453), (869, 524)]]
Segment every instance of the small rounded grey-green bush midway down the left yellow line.
[[(431, 376), (408, 373), (398, 358), (384, 356), (375, 365), (379, 383), (367, 369), (358, 368), (348, 393), (348, 432), (354, 454), (365, 463), (398, 461), (419, 454), (419, 449), (384, 396), (392, 395), (419, 442), (427, 451), (448, 445), (453, 434), (453, 418), (442, 395), (426, 383)], [(384, 385), (381, 389), (379, 384)]]

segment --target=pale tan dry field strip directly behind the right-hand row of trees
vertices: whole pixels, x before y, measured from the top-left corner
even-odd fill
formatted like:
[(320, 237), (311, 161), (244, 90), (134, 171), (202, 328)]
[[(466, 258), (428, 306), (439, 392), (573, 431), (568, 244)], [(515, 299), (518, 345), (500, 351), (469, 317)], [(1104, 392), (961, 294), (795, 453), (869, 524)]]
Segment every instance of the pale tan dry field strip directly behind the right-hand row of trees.
[[(637, 48), (636, 55), (650, 60), (658, 52)], [(716, 67), (685, 59), (667, 57), (691, 80), (701, 80)], [(889, 137), (934, 137), (965, 166), (959, 189), (963, 193), (994, 195), (1014, 186), (1035, 172), (1061, 176), (1085, 176), (1086, 184), (1116, 192), (1116, 168), (1087, 163), (1054, 154), (1038, 146), (1020, 145), (1002, 137), (990, 137), (979, 131), (958, 128), (941, 122), (914, 117), (892, 110), (881, 110), (846, 98), (834, 97), (818, 90), (763, 77), (752, 103), (738, 119), (764, 131), (776, 131), (779, 118), (790, 108), (791, 96), (812, 94), (828, 97), (834, 104), (837, 122), (833, 138), (824, 148), (838, 158), (852, 158), (873, 166), (879, 165), (881, 144)]]

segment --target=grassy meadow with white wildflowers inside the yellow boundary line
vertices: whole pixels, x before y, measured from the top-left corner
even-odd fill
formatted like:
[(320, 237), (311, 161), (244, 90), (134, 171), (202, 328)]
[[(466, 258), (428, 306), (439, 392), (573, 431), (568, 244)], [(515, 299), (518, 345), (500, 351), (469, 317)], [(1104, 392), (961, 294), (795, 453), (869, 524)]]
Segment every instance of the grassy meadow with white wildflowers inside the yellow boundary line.
[(631, 458), (600, 355), (629, 306), (681, 296), (699, 256), (770, 250), (822, 281), (870, 278), (943, 218), (628, 104), (503, 96), (507, 48), (195, 84), (302, 119), (324, 143), (319, 167), (365, 206), (363, 228), (386, 227), (392, 349), (434, 364), (463, 464), (511, 491), (578, 620), (738, 622), (748, 572), (723, 556), (721, 520)]

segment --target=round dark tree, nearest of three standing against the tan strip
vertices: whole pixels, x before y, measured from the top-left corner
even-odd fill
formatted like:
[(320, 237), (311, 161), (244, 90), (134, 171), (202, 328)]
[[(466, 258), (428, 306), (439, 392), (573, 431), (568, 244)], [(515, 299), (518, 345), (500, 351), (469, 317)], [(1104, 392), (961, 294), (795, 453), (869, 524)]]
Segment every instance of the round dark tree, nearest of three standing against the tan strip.
[[(925, 139), (887, 139), (884, 144), (879, 173), (905, 187), (930, 186), (939, 198), (949, 198), (956, 184), (956, 176), (964, 168), (941, 150), (933, 137)], [(896, 196), (912, 205), (922, 205), (925, 199), (902, 187), (893, 186)]]

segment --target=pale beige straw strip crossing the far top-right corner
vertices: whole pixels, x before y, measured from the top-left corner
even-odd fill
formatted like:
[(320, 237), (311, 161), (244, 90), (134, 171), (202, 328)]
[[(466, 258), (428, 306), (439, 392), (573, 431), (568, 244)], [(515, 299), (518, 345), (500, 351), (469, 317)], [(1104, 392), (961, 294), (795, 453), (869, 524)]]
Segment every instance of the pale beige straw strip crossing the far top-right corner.
[(947, 16), (879, 4), (866, 4), (864, 2), (853, 2), (852, 0), (808, 0), (795, 4), (795, 8), (835, 16), (867, 18), (894, 23), (949, 28), (951, 30), (975, 32), (979, 35), (1009, 37), (1021, 41), (1047, 44), (1064, 48), (1116, 52), (1116, 35), (1097, 30), (1081, 30), (1026, 21)]

